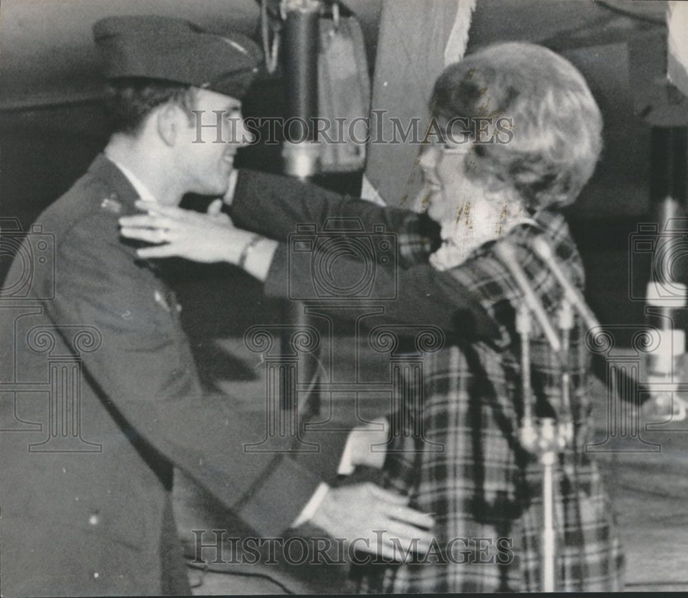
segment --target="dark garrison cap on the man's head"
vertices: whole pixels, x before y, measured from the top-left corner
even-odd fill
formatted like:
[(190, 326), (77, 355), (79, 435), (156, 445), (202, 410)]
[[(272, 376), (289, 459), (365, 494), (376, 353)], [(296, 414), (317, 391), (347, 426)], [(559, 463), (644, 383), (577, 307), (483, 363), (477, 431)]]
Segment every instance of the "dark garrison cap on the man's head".
[(175, 17), (106, 17), (93, 34), (108, 79), (164, 79), (235, 98), (244, 96), (262, 58), (245, 35), (213, 34)]

